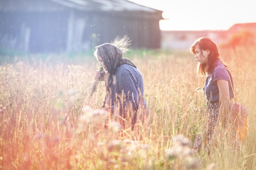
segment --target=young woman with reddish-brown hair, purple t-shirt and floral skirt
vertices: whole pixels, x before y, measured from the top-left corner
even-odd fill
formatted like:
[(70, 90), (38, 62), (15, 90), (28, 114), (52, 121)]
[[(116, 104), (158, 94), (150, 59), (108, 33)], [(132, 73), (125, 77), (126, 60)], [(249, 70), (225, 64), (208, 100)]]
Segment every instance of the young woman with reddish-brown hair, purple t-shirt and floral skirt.
[[(217, 142), (224, 137), (229, 121), (230, 100), (234, 97), (231, 88), (233, 80), (227, 65), (220, 59), (216, 43), (209, 37), (195, 39), (190, 50), (198, 61), (198, 75), (207, 76), (204, 84), (204, 94), (208, 100), (207, 119), (193, 147), (200, 151), (202, 142), (206, 148), (209, 148), (216, 146)], [(234, 128), (229, 132), (229, 142), (231, 151), (240, 149), (240, 142)]]

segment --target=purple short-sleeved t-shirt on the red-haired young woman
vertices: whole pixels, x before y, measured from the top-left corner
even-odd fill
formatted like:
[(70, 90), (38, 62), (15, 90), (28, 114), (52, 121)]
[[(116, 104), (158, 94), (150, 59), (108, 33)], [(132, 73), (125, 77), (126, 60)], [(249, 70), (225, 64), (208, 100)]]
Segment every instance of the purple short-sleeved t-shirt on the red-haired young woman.
[[(222, 66), (223, 68), (220, 68), (218, 66)], [(229, 73), (229, 76), (227, 75), (227, 72), (224, 70), (227, 70)], [(220, 59), (216, 61), (216, 66), (214, 67), (213, 71), (209, 72), (209, 76), (207, 76), (205, 84), (204, 84), (204, 94), (205, 97), (209, 102), (219, 102), (219, 89), (217, 85), (217, 80), (226, 80), (229, 82), (229, 97), (232, 99), (234, 97), (232, 92), (232, 87), (229, 81), (229, 77), (231, 79), (232, 86), (233, 85), (233, 79), (229, 72), (229, 70), (220, 62)]]

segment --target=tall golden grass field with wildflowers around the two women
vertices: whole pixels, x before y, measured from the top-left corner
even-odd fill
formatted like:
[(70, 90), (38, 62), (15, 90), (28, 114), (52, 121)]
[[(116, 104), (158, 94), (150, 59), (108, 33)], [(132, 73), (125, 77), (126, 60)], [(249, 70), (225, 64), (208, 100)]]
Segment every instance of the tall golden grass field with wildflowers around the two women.
[[(0, 66), (0, 169), (6, 170), (256, 170), (256, 50), (220, 49), (238, 101), (249, 111), (250, 133), (237, 153), (221, 145), (192, 152), (206, 101), (189, 52), (134, 51), (127, 56), (144, 77), (150, 133), (118, 122), (103, 128), (98, 111), (104, 83), (92, 98), (97, 69), (92, 56), (19, 59)], [(198, 88), (199, 87), (199, 88)], [(129, 122), (129, 120), (127, 120)]]

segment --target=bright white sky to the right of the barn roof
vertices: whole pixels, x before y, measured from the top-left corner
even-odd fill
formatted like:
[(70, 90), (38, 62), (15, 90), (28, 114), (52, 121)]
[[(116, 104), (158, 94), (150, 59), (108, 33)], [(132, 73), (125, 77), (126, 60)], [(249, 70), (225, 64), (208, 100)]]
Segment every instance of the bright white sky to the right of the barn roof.
[(163, 12), (161, 30), (228, 30), (256, 22), (255, 0), (130, 0)]

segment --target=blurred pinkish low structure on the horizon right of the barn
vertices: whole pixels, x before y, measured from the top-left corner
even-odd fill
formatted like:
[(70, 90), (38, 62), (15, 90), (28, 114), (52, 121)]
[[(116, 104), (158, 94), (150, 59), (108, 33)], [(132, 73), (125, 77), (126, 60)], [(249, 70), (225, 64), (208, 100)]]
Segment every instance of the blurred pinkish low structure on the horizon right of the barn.
[[(240, 33), (243, 31), (247, 31), (248, 33)], [(234, 36), (235, 34), (236, 36)], [(253, 34), (254, 36), (252, 36)], [(247, 41), (248, 36), (251, 36), (252, 39), (250, 39), (248, 43), (252, 44), (254, 43), (254, 39), (256, 37), (256, 23), (234, 24), (229, 28), (229, 30), (162, 31), (161, 36), (161, 47), (170, 49), (189, 50), (189, 47), (193, 44), (196, 38), (204, 36), (210, 37), (218, 45), (229, 44), (232, 46), (236, 46), (238, 42), (232, 40), (231, 38), (236, 37), (236, 39), (238, 39), (241, 42), (241, 39), (245, 38), (245, 41)]]

